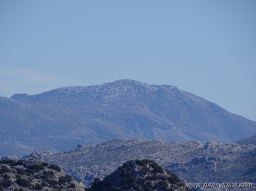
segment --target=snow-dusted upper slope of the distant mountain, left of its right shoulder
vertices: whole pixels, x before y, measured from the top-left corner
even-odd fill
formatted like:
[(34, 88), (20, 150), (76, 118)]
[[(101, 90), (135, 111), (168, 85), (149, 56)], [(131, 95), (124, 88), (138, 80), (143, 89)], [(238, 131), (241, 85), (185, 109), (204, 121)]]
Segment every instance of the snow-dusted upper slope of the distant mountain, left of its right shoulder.
[(145, 96), (149, 98), (157, 89), (153, 85), (125, 79), (102, 85), (67, 86), (32, 96), (14, 94), (11, 98), (54, 105), (125, 106), (128, 102), (133, 105), (141, 103)]

